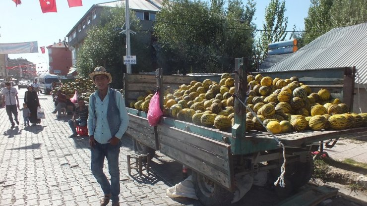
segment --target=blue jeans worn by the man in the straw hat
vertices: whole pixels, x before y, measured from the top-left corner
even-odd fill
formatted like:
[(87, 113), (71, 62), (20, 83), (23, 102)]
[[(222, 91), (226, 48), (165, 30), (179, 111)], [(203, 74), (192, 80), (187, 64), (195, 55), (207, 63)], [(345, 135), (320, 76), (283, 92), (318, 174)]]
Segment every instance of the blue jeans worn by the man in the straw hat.
[[(119, 153), (122, 142), (112, 146), (108, 144), (100, 144), (96, 141), (94, 148), (91, 148), (91, 170), (97, 182), (101, 185), (105, 195), (111, 194), (113, 202), (119, 202), (120, 194), (120, 169), (119, 169)], [(108, 170), (111, 175), (111, 184), (105, 173), (103, 173), (103, 162), (107, 158)]]

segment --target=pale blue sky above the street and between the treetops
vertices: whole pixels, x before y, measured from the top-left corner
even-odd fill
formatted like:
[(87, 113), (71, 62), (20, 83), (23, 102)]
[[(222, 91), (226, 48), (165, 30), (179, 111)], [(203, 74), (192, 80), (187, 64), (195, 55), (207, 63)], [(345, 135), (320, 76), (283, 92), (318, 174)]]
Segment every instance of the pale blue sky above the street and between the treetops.
[[(22, 4), (15, 7), (12, 0), (0, 0), (0, 44), (37, 41), (38, 47), (47, 47), (59, 42), (69, 33), (72, 27), (96, 3), (112, 0), (82, 0), (83, 6), (68, 7), (67, 0), (56, 0), (56, 13), (42, 13), (39, 0), (21, 0)], [(304, 18), (307, 16), (310, 0), (285, 0), (288, 16), (288, 28), (304, 29)], [(244, 3), (247, 0), (243, 0)], [(262, 28), (265, 7), (270, 0), (256, 0), (256, 12), (253, 22), (258, 29)], [(67, 38), (66, 38), (67, 39)], [(37, 64), (37, 67), (48, 68), (48, 53), (9, 54), (9, 58), (26, 58)]]

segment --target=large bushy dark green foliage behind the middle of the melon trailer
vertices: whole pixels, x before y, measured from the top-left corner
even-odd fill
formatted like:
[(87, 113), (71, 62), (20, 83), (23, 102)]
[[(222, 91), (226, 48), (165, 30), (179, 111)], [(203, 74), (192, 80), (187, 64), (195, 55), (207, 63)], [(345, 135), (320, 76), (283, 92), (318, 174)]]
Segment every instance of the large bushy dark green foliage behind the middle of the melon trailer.
[(255, 3), (248, 0), (164, 0), (157, 14), (155, 49), (165, 73), (232, 71), (234, 59), (252, 56)]

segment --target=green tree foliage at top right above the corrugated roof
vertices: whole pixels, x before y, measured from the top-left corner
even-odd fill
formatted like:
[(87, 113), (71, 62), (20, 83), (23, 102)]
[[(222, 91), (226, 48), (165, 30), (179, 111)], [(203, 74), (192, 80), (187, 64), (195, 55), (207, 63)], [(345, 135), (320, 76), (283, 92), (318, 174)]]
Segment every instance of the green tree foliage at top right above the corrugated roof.
[(363, 22), (367, 22), (366, 0), (311, 0), (302, 37), (308, 44), (335, 27)]

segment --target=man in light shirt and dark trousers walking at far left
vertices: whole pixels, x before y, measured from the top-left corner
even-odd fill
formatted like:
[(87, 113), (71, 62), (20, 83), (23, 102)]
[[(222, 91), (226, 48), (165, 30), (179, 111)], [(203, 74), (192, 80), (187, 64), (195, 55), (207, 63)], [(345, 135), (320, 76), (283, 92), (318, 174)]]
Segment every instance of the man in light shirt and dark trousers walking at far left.
[(9, 116), (11, 128), (14, 128), (15, 124), (12, 114), (14, 114), (15, 123), (19, 125), (17, 109), (17, 107), (19, 108), (18, 91), (11, 87), (10, 82), (5, 82), (5, 87), (2, 88), (2, 95), (3, 99), (5, 99), (6, 114)]

